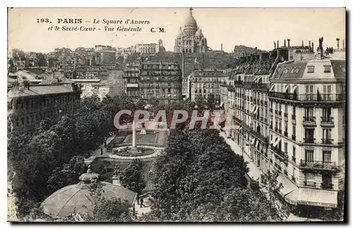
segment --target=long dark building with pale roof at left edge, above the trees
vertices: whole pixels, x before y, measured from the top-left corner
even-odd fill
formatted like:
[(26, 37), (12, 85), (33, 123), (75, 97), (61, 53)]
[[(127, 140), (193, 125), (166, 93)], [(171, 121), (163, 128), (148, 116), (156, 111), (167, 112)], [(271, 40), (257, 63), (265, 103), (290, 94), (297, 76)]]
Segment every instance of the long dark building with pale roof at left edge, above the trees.
[(8, 91), (8, 123), (11, 129), (33, 130), (42, 119), (56, 122), (80, 107), (81, 90), (62, 83), (23, 85)]

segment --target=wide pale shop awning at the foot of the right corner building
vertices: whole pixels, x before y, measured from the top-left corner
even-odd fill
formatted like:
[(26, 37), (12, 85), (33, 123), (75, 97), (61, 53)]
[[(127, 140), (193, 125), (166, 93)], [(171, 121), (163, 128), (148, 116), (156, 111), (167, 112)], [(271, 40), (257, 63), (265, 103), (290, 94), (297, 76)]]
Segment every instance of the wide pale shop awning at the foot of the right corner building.
[(337, 191), (300, 188), (298, 204), (337, 208)]

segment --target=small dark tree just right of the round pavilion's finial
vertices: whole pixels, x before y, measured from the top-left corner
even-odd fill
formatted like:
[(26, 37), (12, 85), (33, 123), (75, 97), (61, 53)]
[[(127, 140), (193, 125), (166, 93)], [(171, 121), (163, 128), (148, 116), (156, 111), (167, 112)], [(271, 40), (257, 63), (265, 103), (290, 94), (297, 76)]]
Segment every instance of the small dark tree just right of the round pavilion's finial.
[(142, 168), (143, 163), (140, 160), (132, 160), (120, 175), (121, 184), (137, 194), (142, 194), (146, 187)]

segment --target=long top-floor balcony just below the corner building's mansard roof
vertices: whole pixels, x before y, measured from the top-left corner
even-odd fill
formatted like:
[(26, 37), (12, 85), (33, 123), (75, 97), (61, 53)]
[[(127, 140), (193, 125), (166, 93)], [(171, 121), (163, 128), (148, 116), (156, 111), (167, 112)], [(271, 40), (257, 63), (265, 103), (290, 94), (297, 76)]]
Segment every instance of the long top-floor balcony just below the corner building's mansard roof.
[(280, 98), (285, 100), (304, 101), (304, 102), (343, 102), (345, 95), (343, 94), (294, 94), (294, 93), (276, 93), (270, 91), (269, 98)]

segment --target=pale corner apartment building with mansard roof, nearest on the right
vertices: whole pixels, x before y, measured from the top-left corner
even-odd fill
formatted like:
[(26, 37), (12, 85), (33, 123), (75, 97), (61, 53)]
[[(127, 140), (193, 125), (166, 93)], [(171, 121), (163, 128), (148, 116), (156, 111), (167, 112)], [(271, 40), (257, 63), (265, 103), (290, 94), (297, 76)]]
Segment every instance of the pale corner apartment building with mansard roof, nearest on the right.
[(292, 189), (287, 198), (335, 208), (345, 181), (345, 59), (278, 64), (268, 98), (268, 157)]

